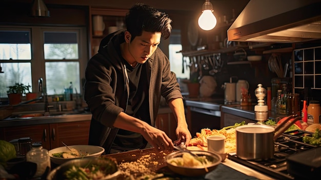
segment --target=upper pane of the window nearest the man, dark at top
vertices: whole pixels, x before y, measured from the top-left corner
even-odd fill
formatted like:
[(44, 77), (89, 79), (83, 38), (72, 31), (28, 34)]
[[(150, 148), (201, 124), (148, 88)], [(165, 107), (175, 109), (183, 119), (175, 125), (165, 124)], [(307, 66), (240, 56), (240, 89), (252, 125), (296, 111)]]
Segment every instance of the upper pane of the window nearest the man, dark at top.
[(45, 59), (78, 59), (77, 32), (45, 32)]

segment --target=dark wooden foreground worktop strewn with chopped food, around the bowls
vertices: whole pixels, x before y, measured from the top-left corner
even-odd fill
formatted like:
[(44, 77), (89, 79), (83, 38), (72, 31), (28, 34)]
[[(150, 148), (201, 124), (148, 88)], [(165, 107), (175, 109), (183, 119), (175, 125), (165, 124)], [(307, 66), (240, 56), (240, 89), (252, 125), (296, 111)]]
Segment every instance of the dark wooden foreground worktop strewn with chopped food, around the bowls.
[[(180, 176), (178, 174), (173, 173), (164, 162), (164, 157), (166, 154), (172, 151), (160, 151), (158, 152), (154, 148), (143, 149), (143, 150), (135, 150), (128, 151), (116, 154), (108, 154), (103, 155), (105, 157), (112, 157), (117, 160), (118, 164), (127, 163), (127, 162), (137, 162), (137, 160), (143, 156), (150, 156), (150, 160), (148, 163), (144, 163), (144, 165), (148, 168), (149, 171), (155, 173), (164, 173), (168, 176), (179, 177), (180, 179), (190, 179), (190, 180), (199, 180), (199, 179), (272, 179), (265, 174), (254, 171), (250, 168), (247, 168), (243, 165), (237, 164), (235, 162), (226, 159), (225, 162), (219, 164), (217, 168), (205, 176), (199, 177), (185, 177)], [(128, 169), (128, 168), (127, 168)], [(131, 175), (135, 175), (135, 173), (131, 173)], [(141, 173), (136, 173), (137, 177), (141, 176)], [(124, 175), (119, 177), (118, 179), (124, 179)]]

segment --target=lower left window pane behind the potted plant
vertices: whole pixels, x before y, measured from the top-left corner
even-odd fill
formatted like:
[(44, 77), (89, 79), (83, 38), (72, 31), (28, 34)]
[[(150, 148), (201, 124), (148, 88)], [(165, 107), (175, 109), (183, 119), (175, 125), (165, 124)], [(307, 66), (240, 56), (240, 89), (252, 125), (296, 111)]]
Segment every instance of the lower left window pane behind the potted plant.
[(1, 63), (1, 67), (4, 73), (0, 73), (0, 97), (8, 97), (8, 87), (15, 83), (32, 86), (30, 63)]

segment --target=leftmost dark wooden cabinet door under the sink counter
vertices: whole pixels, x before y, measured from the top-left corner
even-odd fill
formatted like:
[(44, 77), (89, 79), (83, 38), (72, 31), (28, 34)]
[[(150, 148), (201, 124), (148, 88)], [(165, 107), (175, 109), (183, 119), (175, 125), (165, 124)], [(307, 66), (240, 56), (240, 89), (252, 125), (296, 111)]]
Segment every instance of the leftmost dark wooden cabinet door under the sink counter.
[(50, 149), (48, 124), (0, 128), (0, 139), (9, 142), (21, 137), (30, 137), (32, 142), (42, 142), (43, 148)]

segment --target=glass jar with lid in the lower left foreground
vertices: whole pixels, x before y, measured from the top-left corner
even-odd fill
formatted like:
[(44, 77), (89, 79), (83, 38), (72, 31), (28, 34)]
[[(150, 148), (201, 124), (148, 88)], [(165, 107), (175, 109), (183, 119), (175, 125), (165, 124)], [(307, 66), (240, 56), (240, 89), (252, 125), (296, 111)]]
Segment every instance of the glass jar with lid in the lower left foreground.
[(27, 162), (32, 162), (37, 164), (37, 171), (34, 174), (34, 177), (42, 176), (47, 168), (50, 170), (50, 156), (47, 149), (43, 149), (41, 143), (33, 143), (32, 149), (27, 153), (26, 160)]

